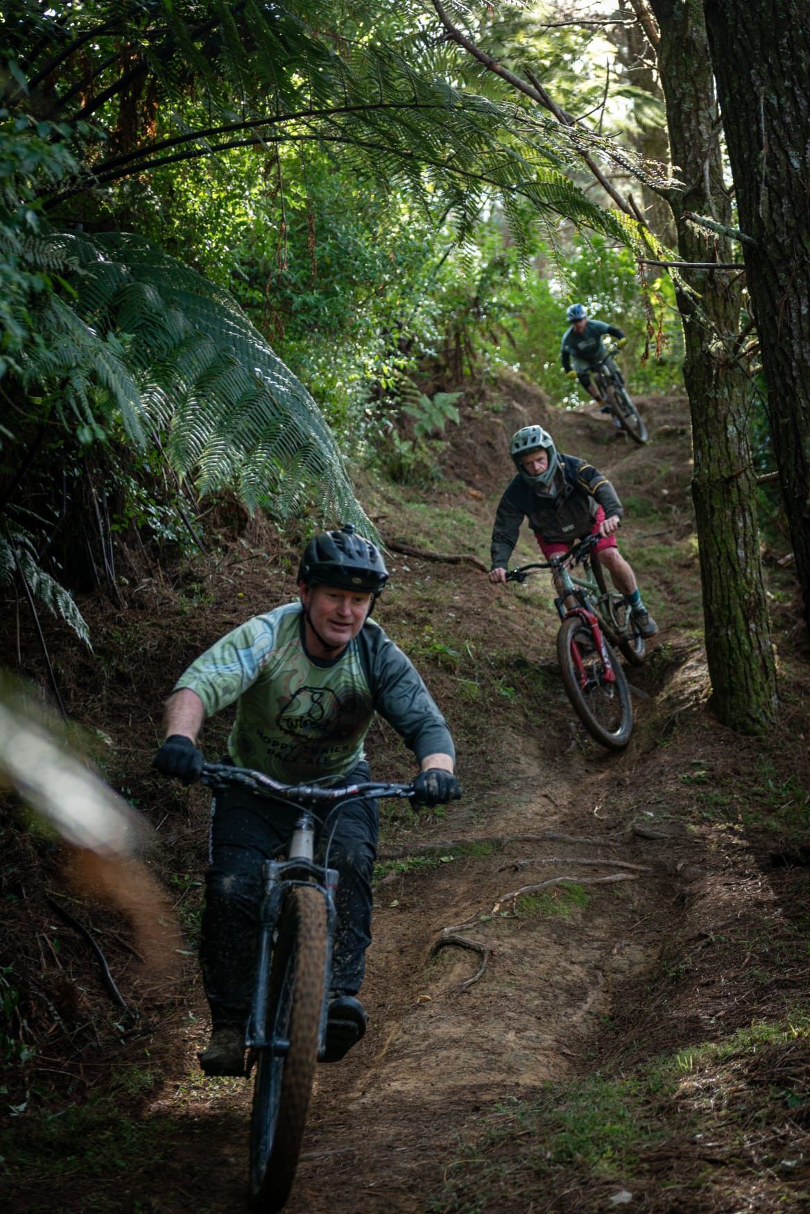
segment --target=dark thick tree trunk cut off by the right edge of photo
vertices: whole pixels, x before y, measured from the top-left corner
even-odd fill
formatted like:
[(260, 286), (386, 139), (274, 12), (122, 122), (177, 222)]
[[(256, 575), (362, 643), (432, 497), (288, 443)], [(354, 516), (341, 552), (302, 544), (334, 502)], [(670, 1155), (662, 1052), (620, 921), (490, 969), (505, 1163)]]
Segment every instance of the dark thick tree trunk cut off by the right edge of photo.
[(810, 625), (810, 15), (704, 0), (774, 453)]

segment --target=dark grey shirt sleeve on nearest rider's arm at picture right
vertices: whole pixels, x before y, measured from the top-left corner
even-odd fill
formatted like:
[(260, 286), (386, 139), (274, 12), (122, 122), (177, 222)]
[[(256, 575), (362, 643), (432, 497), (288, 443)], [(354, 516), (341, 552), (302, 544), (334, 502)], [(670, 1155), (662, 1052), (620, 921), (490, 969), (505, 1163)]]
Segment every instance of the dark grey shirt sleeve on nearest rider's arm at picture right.
[(447, 721), (410, 659), (372, 620), (359, 635), (367, 646), (375, 711), (393, 726), (418, 762), (430, 754), (454, 759), (455, 748)]

